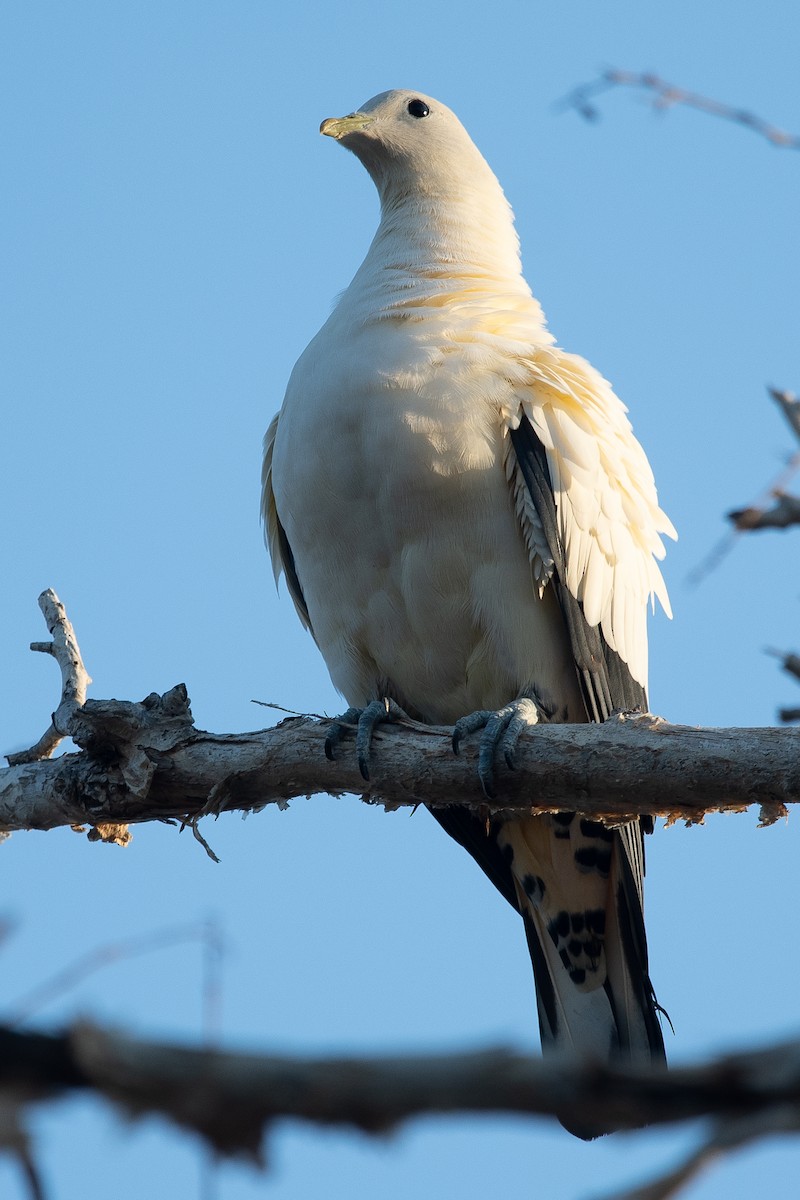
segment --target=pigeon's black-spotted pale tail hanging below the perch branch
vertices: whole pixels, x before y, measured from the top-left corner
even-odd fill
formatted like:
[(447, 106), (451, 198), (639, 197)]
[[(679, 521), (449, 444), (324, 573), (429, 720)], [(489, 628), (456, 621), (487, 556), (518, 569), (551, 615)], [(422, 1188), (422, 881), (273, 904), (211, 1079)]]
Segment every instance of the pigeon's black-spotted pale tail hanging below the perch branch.
[[(498, 836), (525, 923), (542, 1050), (664, 1062), (648, 972), (639, 822), (607, 829), (558, 814), (507, 822)], [(571, 1132), (594, 1138), (610, 1129)]]

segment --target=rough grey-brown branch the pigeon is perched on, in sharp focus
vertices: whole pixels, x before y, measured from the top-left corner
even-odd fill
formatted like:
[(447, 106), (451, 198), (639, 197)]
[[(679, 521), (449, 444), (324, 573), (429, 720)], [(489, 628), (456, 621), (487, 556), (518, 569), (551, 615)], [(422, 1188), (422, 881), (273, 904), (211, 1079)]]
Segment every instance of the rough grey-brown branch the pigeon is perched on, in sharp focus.
[[(452, 731), (401, 720), (375, 734), (371, 779), (353, 742), (325, 757), (329, 722), (293, 718), (253, 733), (196, 728), (186, 688), (142, 703), (88, 700), (66, 732), (77, 754), (0, 770), (0, 830), (89, 826), (92, 840), (126, 844), (128, 822), (258, 811), (325, 792), (387, 808), (459, 804), (491, 812), (558, 812), (622, 821), (639, 814), (698, 822), (706, 812), (760, 805), (769, 824), (800, 800), (794, 732), (711, 730), (618, 714), (603, 725), (540, 725), (521, 739), (516, 769), (488, 800), (477, 738), (457, 757)], [(200, 839), (203, 840), (203, 839)]]

